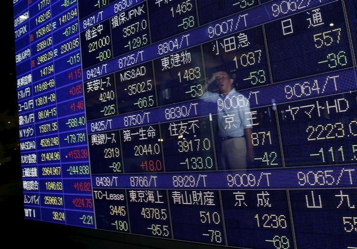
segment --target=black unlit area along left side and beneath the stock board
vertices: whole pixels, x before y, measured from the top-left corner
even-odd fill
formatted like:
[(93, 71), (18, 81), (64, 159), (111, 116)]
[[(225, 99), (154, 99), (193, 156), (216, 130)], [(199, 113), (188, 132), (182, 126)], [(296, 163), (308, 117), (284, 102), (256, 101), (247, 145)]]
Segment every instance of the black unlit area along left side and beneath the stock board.
[[(137, 235), (51, 224), (24, 219), (20, 163), (13, 2), (2, 1), (2, 63), (0, 90), (0, 221), (2, 244), (34, 248), (197, 248), (210, 246)], [(2, 246), (3, 246), (2, 245)]]

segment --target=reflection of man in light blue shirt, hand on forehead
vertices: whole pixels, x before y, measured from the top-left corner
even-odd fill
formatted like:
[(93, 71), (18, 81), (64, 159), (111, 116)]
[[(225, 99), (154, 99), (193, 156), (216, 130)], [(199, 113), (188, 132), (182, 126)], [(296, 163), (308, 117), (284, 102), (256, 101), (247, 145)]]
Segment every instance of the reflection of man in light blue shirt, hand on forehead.
[[(247, 155), (249, 160), (253, 160), (254, 157), (249, 101), (234, 89), (233, 81), (226, 72), (214, 73), (208, 80), (202, 96), (205, 101), (217, 103), (217, 122), (221, 140), (219, 166), (227, 170), (246, 169)], [(207, 91), (213, 82), (217, 83), (218, 92)], [(230, 100), (235, 103), (243, 100), (240, 102), (246, 104), (236, 105), (235, 108), (222, 108), (218, 103), (223, 103), (225, 100), (227, 103)]]

